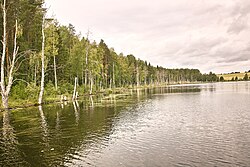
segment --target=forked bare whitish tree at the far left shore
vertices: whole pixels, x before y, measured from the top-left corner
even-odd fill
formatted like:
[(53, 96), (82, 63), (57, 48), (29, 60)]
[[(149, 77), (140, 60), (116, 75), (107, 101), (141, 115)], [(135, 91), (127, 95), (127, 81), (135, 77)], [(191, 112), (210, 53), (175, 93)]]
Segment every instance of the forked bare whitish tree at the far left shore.
[[(3, 10), (3, 51), (2, 51), (2, 57), (1, 57), (1, 95), (2, 95), (2, 105), (5, 109), (8, 109), (9, 107), (9, 94), (10, 90), (13, 84), (13, 73), (14, 73), (14, 67), (16, 62), (16, 56), (18, 53), (18, 47), (17, 47), (17, 20), (16, 20), (16, 30), (15, 30), (15, 37), (14, 37), (14, 47), (13, 47), (13, 55), (12, 60), (9, 61), (10, 68), (7, 68), (7, 76), (5, 76), (5, 58), (6, 58), (6, 48), (7, 48), (7, 33), (6, 33), (6, 26), (7, 26), (7, 12), (6, 12), (6, 0), (3, 0), (2, 4), (2, 10)], [(7, 81), (7, 83), (5, 83)], [(7, 86), (6, 86), (7, 84)]]

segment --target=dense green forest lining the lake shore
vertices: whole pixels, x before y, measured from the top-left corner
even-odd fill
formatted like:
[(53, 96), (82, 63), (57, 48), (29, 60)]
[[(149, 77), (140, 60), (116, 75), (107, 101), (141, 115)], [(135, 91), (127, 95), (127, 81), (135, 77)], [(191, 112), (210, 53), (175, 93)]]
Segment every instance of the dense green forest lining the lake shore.
[(2, 103), (6, 98), (7, 103), (8, 99), (37, 102), (39, 92), (43, 95), (41, 87), (48, 100), (72, 95), (75, 85), (78, 95), (86, 95), (219, 80), (212, 72), (202, 74), (198, 69), (155, 67), (136, 55), (117, 53), (104, 40), (91, 42), (89, 32), (82, 37), (72, 24), (45, 17), (43, 0), (0, 2)]

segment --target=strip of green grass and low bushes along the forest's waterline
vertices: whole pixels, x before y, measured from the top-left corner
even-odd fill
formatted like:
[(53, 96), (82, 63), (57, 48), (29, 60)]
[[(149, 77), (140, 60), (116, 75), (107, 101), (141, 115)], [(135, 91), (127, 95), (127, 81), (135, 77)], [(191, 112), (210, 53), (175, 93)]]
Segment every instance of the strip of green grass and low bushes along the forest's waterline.
[[(166, 87), (171, 85), (182, 85), (182, 84), (200, 84), (201, 82), (180, 82), (180, 83), (170, 83), (170, 84), (151, 84), (151, 85), (141, 85), (139, 87), (136, 86), (128, 86), (123, 88), (113, 88), (113, 89), (103, 89), (103, 90), (94, 90), (92, 96), (103, 95), (104, 97), (109, 97), (109, 95), (127, 95), (130, 94), (132, 90), (136, 89), (148, 89), (148, 88), (157, 88), (157, 87)], [(87, 89), (83, 89), (81, 87), (78, 88), (79, 99), (82, 97), (90, 96)], [(32, 87), (29, 85), (25, 88), (25, 85), (17, 85), (13, 88), (12, 94), (9, 98), (9, 108), (17, 109), (17, 108), (27, 108), (32, 106), (38, 106), (38, 93), (39, 87)], [(59, 90), (55, 90), (52, 84), (49, 84), (44, 93), (44, 103), (43, 104), (51, 104), (58, 103), (62, 101), (72, 101), (72, 93), (73, 86), (61, 87)], [(66, 97), (66, 99), (62, 100), (62, 96)], [(0, 101), (0, 105), (1, 101)], [(0, 107), (0, 110), (3, 108)]]

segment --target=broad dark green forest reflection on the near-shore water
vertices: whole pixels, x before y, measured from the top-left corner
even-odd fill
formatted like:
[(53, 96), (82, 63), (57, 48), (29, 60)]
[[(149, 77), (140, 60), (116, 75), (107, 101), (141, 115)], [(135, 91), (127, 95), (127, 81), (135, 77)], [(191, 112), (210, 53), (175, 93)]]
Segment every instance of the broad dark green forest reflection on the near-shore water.
[[(19, 166), (60, 166), (65, 162), (65, 158), (70, 158), (76, 150), (94, 143), (102, 143), (110, 135), (112, 118), (115, 117), (115, 111), (119, 111), (120, 107), (115, 110), (114, 105), (110, 105), (110, 99), (106, 102), (108, 105), (103, 106), (96, 105), (95, 97), (93, 97), (93, 103), (89, 97), (86, 99), (88, 101), (81, 101), (81, 103), (79, 101), (80, 105), (75, 103), (75, 108), (74, 104), (70, 104), (61, 109), (59, 104), (58, 106), (30, 108), (30, 112), (20, 110), (13, 113), (16, 121), (12, 125), (17, 131), (16, 135), (20, 142), (19, 152), (22, 154), (18, 153), (14, 129), (5, 128), (5, 132), (1, 135), (7, 135), (7, 131), (12, 130), (11, 139), (14, 139), (14, 141), (8, 139), (13, 148), (12, 153), (9, 151), (8, 155), (12, 154), (14, 157), (12, 158), (14, 165), (9, 166), (18, 166), (17, 161), (20, 158), (23, 158), (27, 165)], [(114, 102), (115, 98), (112, 101)], [(74, 109), (77, 110), (74, 112)], [(6, 118), (8, 117), (4, 116), (4, 120), (8, 120)], [(31, 119), (31, 121), (25, 123), (26, 119)], [(7, 127), (9, 122), (4, 122), (6, 122), (4, 127)], [(78, 125), (75, 122), (78, 122)], [(10, 132), (8, 132), (9, 136), (11, 136)], [(3, 141), (2, 136), (0, 136), (0, 141), (2, 141), (0, 155), (8, 157), (7, 153), (3, 154), (4, 150), (1, 150), (7, 142)], [(5, 159), (5, 157), (0, 159), (0, 166), (4, 163), (1, 160)]]

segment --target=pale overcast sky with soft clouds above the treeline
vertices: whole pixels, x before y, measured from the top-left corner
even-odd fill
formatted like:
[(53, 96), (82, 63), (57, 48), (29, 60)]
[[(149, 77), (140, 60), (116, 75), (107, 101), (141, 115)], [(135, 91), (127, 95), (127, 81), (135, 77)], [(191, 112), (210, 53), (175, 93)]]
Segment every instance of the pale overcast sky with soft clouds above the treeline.
[(203, 73), (250, 70), (250, 0), (45, 0), (62, 25), (124, 55)]

